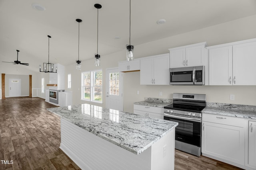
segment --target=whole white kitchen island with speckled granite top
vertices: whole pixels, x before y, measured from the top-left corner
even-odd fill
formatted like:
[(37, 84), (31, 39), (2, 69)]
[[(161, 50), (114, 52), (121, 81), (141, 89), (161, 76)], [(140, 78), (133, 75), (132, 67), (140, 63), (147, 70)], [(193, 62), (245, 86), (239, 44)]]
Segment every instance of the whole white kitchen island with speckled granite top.
[(81, 169), (172, 170), (177, 122), (81, 104), (54, 107), (62, 149)]

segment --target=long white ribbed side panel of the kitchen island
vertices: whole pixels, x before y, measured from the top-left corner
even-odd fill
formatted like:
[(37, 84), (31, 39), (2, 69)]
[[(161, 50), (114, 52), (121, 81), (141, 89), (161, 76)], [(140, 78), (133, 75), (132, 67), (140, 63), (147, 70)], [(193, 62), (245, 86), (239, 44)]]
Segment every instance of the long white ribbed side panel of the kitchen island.
[(151, 147), (137, 155), (63, 118), (61, 118), (60, 149), (83, 170), (151, 169)]

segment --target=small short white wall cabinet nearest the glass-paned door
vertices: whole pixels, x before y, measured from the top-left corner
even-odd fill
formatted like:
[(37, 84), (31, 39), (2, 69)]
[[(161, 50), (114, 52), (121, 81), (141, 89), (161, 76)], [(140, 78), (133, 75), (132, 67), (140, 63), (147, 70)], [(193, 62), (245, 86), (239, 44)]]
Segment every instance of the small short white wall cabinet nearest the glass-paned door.
[(118, 69), (120, 72), (132, 72), (140, 70), (140, 60), (120, 61), (118, 62)]

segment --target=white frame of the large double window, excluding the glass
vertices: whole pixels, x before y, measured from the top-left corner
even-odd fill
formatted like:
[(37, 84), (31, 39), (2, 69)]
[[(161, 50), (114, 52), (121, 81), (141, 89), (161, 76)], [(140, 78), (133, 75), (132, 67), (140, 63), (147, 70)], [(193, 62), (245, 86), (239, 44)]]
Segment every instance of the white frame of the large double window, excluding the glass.
[[(101, 86), (98, 86), (98, 85), (95, 85), (94, 82), (95, 82), (95, 73), (96, 72), (101, 72)], [(89, 74), (90, 75), (90, 99), (86, 99), (84, 98), (84, 74)], [(102, 103), (102, 69), (100, 70), (90, 70), (90, 71), (85, 71), (85, 72), (82, 72), (81, 74), (81, 82), (82, 82), (82, 88), (81, 88), (81, 100), (85, 100), (85, 101), (90, 101), (90, 102), (96, 102), (96, 103)], [(88, 86), (87, 86), (88, 87)], [(95, 100), (95, 91), (94, 89), (95, 88), (101, 88), (101, 100)]]

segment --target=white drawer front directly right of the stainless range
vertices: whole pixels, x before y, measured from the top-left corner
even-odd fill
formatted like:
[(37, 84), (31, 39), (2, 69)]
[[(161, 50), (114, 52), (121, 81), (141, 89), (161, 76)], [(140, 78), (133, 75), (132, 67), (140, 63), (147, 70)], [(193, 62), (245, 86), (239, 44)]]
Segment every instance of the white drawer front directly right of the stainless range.
[(237, 127), (244, 127), (245, 119), (238, 117), (230, 117), (223, 115), (214, 115), (214, 114), (202, 114), (202, 121), (208, 121), (212, 123), (219, 123), (224, 125), (231, 125)]

